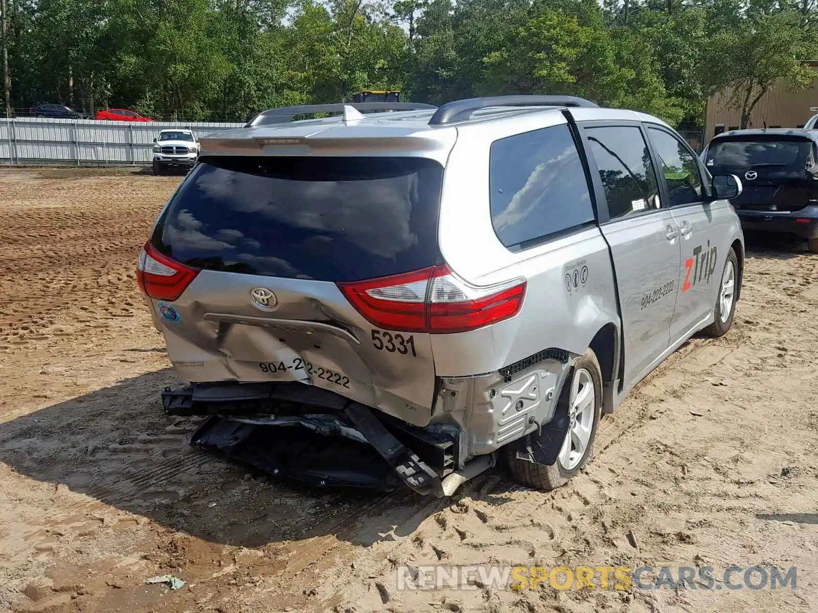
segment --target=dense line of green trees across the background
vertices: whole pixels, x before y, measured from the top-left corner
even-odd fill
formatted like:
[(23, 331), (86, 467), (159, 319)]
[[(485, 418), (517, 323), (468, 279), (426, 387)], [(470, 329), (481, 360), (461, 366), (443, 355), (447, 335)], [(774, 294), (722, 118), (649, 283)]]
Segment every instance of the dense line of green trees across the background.
[(0, 0), (0, 8), (10, 105), (115, 105), (169, 119), (244, 120), (375, 88), (438, 104), (575, 94), (672, 123), (700, 121), (708, 95), (721, 92), (746, 124), (777, 79), (811, 83), (798, 60), (815, 57), (818, 25), (818, 0)]

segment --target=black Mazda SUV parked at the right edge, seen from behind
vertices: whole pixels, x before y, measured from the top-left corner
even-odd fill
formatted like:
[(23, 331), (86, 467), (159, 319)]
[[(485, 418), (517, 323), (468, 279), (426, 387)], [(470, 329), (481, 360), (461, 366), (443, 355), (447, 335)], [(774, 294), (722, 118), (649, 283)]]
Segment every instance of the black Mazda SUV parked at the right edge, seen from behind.
[(734, 130), (702, 152), (713, 175), (735, 174), (744, 190), (730, 201), (744, 230), (786, 232), (818, 253), (818, 130)]

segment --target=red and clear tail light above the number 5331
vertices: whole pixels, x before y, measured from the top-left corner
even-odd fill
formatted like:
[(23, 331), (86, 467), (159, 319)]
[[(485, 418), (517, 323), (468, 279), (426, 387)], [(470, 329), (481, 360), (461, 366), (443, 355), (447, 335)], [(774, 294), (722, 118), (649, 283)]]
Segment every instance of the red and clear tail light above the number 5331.
[(350, 304), (379, 328), (453, 333), (497, 324), (519, 313), (526, 280), (479, 287), (446, 265), (380, 279), (339, 283)]

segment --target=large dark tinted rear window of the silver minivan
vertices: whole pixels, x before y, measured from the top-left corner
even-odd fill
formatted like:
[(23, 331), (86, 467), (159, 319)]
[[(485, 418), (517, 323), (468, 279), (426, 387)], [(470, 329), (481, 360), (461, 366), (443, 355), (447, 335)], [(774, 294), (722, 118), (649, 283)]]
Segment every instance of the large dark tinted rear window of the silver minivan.
[(208, 158), (153, 243), (216, 271), (354, 281), (439, 261), (443, 167), (420, 158)]

